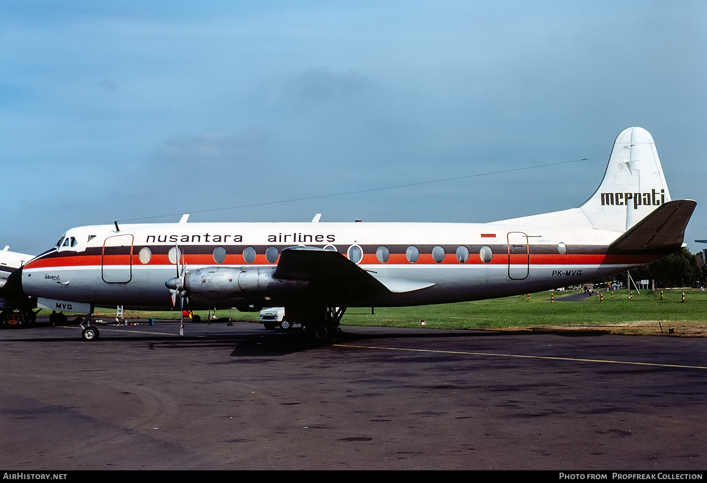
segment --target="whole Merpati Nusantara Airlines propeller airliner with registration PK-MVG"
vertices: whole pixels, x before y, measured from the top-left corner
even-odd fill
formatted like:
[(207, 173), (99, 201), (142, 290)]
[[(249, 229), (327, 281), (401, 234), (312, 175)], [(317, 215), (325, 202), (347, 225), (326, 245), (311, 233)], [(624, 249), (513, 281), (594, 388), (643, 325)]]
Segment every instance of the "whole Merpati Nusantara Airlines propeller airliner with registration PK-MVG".
[[(13, 274), (38, 306), (284, 306), (329, 340), (349, 306), (505, 297), (620, 273), (680, 249), (696, 203), (672, 201), (653, 137), (619, 133), (577, 208), (491, 223), (179, 223), (69, 229)], [(18, 275), (16, 277), (16, 275)], [(98, 338), (84, 329), (83, 338)]]

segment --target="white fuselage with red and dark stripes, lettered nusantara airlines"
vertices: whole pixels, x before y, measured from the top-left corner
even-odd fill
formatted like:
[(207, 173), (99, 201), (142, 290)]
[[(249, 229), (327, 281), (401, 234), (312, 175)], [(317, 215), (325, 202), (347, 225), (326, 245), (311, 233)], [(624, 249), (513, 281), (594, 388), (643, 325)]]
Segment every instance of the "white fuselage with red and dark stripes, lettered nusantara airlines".
[[(349, 306), (404, 306), (575, 285), (658, 258), (607, 256), (617, 232), (530, 227), (528, 221), (160, 223), (122, 225), (119, 232), (111, 225), (78, 227), (62, 238), (69, 243), (25, 265), (22, 284), (34, 297), (165, 309), (172, 306), (165, 281), (182, 263), (187, 271), (274, 267), (282, 249), (305, 245), (335, 249), (389, 289), (344, 301)], [(264, 292), (228, 294), (204, 306), (240, 301), (289, 302), (288, 295)]]

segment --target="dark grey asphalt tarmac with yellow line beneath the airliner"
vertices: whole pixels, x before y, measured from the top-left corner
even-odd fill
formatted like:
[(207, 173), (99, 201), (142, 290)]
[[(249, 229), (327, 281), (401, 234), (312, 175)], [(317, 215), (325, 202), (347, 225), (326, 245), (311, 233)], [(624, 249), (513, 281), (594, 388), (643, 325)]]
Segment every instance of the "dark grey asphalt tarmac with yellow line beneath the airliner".
[(343, 330), (0, 330), (0, 467), (707, 468), (707, 340)]

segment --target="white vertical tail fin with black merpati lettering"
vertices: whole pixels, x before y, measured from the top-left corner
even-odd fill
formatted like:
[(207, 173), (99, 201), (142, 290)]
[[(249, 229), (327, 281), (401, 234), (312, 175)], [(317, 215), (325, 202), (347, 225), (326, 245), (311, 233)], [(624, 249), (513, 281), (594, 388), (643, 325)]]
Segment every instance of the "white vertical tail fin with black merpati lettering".
[(631, 127), (617, 136), (599, 188), (579, 208), (596, 229), (624, 232), (668, 202), (653, 136)]

